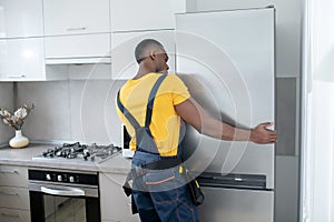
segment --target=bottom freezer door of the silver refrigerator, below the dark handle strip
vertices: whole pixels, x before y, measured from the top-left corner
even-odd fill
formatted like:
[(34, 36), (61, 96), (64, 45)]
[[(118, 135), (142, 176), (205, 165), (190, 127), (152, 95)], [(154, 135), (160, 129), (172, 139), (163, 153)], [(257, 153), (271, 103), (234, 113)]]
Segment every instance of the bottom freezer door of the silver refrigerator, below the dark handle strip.
[(205, 202), (198, 206), (200, 221), (268, 222), (274, 215), (274, 192), (202, 186)]

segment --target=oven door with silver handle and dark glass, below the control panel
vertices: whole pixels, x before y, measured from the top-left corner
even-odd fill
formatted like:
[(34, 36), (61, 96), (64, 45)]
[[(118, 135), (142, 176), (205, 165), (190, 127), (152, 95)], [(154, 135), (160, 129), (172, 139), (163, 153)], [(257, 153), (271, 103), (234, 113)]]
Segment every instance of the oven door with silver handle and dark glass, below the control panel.
[(98, 189), (89, 186), (29, 183), (31, 221), (100, 221)]

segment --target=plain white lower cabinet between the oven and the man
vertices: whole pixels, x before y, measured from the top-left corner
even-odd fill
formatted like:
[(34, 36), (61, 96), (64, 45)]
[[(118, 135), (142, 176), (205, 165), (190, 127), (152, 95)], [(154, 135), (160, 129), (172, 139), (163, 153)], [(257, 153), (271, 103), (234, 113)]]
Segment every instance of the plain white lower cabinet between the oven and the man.
[(122, 191), (126, 174), (100, 173), (100, 202), (102, 222), (137, 222), (131, 213), (131, 199)]

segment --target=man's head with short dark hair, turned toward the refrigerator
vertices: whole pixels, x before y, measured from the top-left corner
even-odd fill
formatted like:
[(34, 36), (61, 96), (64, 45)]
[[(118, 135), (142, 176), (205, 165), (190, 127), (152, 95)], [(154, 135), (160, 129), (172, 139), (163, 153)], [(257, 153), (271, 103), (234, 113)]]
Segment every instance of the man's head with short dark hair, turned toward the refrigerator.
[(149, 62), (155, 72), (166, 72), (168, 56), (164, 46), (154, 39), (145, 39), (139, 42), (135, 50), (135, 57), (138, 64)]

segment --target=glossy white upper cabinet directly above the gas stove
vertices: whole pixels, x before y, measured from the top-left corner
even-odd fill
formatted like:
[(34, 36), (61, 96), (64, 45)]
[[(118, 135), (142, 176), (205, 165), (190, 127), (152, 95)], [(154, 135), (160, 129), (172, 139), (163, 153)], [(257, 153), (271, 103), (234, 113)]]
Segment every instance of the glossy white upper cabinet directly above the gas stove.
[(110, 63), (109, 0), (43, 0), (47, 64)]

